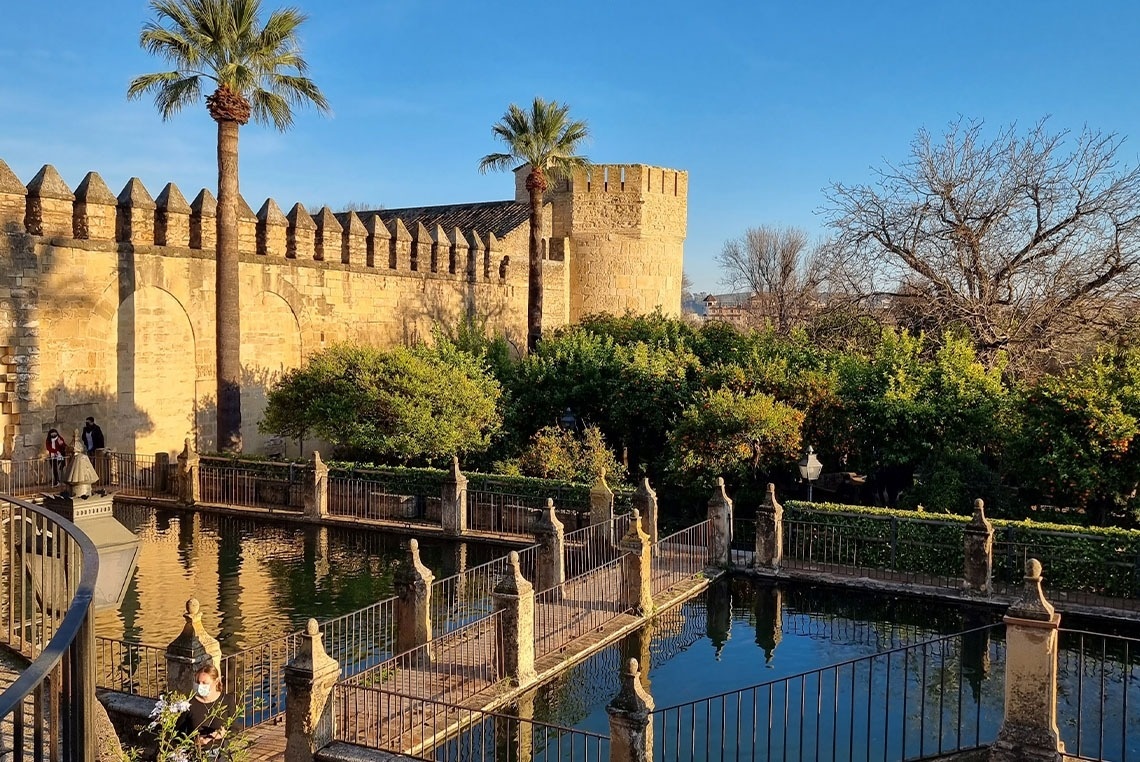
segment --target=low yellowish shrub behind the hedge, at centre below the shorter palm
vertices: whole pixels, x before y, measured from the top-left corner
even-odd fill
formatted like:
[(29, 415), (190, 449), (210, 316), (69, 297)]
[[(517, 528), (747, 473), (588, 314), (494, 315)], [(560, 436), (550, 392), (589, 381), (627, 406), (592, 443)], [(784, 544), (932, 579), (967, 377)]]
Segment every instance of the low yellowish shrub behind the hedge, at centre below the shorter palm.
[(589, 483), (600, 473), (610, 484), (626, 478), (626, 469), (610, 449), (601, 430), (588, 425), (581, 433), (548, 425), (539, 429), (518, 461), (524, 476)]

